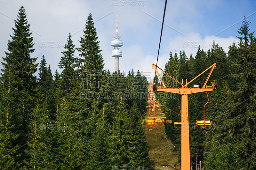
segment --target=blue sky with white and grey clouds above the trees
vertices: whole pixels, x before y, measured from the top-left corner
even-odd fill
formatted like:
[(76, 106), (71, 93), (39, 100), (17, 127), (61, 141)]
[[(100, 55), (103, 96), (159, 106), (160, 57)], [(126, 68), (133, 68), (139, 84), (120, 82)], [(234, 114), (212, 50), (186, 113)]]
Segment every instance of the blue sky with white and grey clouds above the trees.
[[(83, 32), (79, 30), (84, 28), (89, 12), (96, 21), (94, 26), (99, 36), (100, 48), (103, 50), (105, 69), (112, 72), (114, 58), (111, 57), (113, 48), (110, 42), (115, 36), (117, 13), (119, 35), (124, 44), (121, 48), (123, 57), (119, 59), (120, 71), (127, 73), (133, 68), (135, 71), (144, 72), (148, 78), (152, 77), (152, 63), (156, 63), (161, 31), (161, 22), (158, 20), (162, 21), (163, 18), (164, 0), (1, 0), (0, 61), (2, 56), (5, 56), (9, 35), (13, 34), (12, 19), (17, 18), (21, 5), (26, 9), (34, 37), (36, 50), (31, 57), (38, 56), (39, 63), (44, 55), (53, 73), (55, 70), (61, 72), (58, 62), (68, 33), (73, 34), (74, 44), (80, 47), (78, 41)], [(228, 52), (228, 46), (234, 41), (236, 44), (238, 42), (237, 29), (241, 26), (238, 21), (244, 16), (249, 16), (247, 21), (251, 21), (250, 29), (255, 31), (255, 0), (167, 1), (166, 25), (163, 29), (158, 66), (164, 68), (170, 51), (174, 53), (175, 50), (185, 50), (187, 56), (190, 53), (195, 56), (199, 45), (207, 50), (211, 48), (213, 40)], [(78, 52), (75, 55), (78, 56)]]

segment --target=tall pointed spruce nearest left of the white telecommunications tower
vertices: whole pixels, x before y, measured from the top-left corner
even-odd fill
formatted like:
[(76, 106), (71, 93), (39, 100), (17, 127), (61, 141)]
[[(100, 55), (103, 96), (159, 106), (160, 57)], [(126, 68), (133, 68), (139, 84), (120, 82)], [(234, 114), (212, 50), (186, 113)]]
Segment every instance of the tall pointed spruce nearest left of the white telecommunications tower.
[[(75, 130), (77, 131), (77, 138), (81, 141), (80, 152), (83, 153), (82, 162), (85, 162), (82, 168), (89, 168), (92, 161), (88, 161), (95, 151), (91, 152), (91, 148), (95, 142), (94, 135), (97, 134), (97, 122), (102, 121), (102, 109), (105, 104), (108, 104), (108, 81), (106, 71), (103, 70), (103, 57), (100, 53), (102, 50), (97, 40), (96, 28), (91, 13), (89, 14), (84, 35), (81, 37), (80, 46), (77, 48), (79, 55), (82, 57), (76, 63), (79, 67), (80, 73), (80, 99), (76, 101), (76, 110), (79, 115), (74, 117)], [(108, 112), (106, 112), (108, 113)], [(107, 119), (110, 118), (106, 115)], [(110, 118), (111, 119), (111, 118)], [(102, 143), (104, 143), (104, 139)], [(99, 143), (101, 143), (99, 142)], [(96, 146), (98, 147), (98, 146)], [(106, 153), (107, 154), (107, 153)], [(96, 162), (100, 161), (102, 157), (97, 157)], [(95, 168), (99, 168), (96, 164)], [(105, 167), (105, 166), (102, 166)]]

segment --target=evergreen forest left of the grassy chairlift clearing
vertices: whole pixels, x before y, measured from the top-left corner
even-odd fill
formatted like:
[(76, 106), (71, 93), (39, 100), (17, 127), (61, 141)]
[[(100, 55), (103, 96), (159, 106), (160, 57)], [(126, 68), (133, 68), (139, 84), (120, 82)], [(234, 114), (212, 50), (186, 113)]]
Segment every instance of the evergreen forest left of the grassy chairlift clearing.
[(21, 6), (2, 62), (0, 168), (152, 169), (141, 124), (147, 79), (104, 70), (91, 13), (80, 47), (68, 34), (54, 75), (44, 55), (31, 58), (29, 27)]

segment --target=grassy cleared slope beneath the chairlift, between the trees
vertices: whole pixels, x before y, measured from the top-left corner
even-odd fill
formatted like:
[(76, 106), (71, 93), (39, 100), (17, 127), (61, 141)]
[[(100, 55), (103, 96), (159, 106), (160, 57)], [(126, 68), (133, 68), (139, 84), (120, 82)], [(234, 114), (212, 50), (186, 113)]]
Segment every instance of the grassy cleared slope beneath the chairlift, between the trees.
[[(148, 115), (148, 107), (146, 113), (147, 115), (145, 115), (145, 118), (150, 117)], [(156, 109), (156, 117), (162, 117), (162, 115), (159, 113), (160, 111)], [(163, 139), (164, 127), (162, 127), (160, 130), (152, 128), (152, 130), (149, 131), (145, 125), (145, 120), (143, 124), (147, 136), (146, 142), (148, 143), (149, 147), (148, 154), (150, 155), (150, 159), (154, 160), (155, 168), (162, 170), (180, 169), (180, 164), (178, 163), (178, 153), (172, 152), (172, 141), (169, 139)]]

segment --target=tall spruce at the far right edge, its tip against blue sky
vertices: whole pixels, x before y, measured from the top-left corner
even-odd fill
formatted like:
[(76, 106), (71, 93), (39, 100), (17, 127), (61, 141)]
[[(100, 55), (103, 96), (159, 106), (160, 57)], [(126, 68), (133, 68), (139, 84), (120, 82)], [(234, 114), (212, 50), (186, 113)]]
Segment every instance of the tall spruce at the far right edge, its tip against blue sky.
[[(253, 37), (253, 33), (249, 33), (249, 24), (250, 22), (244, 20), (242, 21), (241, 28), (237, 31), (241, 34), (242, 37), (237, 37), (239, 42), (238, 54), (239, 58), (237, 60), (237, 64), (240, 67), (247, 66), (252, 62), (255, 62), (256, 56), (255, 53), (253, 55), (251, 49), (253, 49), (253, 45), (255, 44), (255, 38)], [(252, 44), (252, 48), (251, 48)], [(254, 45), (255, 48), (255, 45)], [(256, 66), (251, 65), (246, 69), (242, 70), (241, 73), (234, 75), (238, 82), (238, 93), (239, 98), (237, 101), (241, 103), (236, 110), (239, 111), (237, 117), (240, 117), (243, 124), (236, 123), (236, 131), (237, 139), (239, 141), (239, 147), (246, 148), (246, 153), (250, 155), (255, 155), (256, 150), (253, 148), (255, 145), (255, 135), (253, 135), (253, 131), (255, 131), (255, 126), (253, 125), (253, 117), (255, 116), (255, 99), (252, 97), (255, 95), (255, 81), (256, 81)], [(242, 139), (242, 140), (241, 140)], [(245, 161), (245, 167), (248, 169), (256, 168), (256, 164), (252, 163), (252, 158), (244, 153), (241, 153), (241, 159)]]

